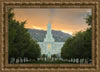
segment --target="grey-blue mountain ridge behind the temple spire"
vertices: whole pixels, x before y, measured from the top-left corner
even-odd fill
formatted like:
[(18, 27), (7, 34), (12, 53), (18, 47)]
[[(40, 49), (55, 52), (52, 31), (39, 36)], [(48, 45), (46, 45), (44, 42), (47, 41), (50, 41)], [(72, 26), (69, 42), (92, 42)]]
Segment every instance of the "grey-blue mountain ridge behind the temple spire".
[[(27, 29), (33, 39), (37, 40), (38, 42), (43, 42), (46, 36), (46, 31), (44, 30), (37, 30), (37, 29)], [(61, 31), (52, 30), (53, 38), (56, 42), (65, 42), (68, 37), (72, 37), (72, 35), (68, 33), (64, 33)]]

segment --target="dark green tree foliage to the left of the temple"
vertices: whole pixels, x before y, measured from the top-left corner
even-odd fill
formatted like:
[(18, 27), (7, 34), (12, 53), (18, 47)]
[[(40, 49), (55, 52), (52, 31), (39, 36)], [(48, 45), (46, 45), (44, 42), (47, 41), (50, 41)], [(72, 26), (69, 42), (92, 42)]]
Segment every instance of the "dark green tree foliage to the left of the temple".
[(27, 29), (24, 28), (24, 22), (14, 20), (14, 13), (8, 11), (9, 23), (9, 58), (27, 57), (30, 59), (37, 59), (41, 55), (39, 45), (32, 39)]

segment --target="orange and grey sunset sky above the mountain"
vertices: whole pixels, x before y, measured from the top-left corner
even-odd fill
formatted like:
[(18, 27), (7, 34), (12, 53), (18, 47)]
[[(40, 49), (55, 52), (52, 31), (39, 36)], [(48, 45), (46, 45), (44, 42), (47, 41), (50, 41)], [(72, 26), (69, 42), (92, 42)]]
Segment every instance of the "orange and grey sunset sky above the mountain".
[[(47, 30), (47, 24), (52, 24), (53, 30), (60, 30), (65, 33), (74, 34), (89, 27), (85, 19), (91, 14), (87, 8), (15, 8), (15, 19), (27, 21), (25, 28)], [(49, 16), (50, 14), (50, 16)]]

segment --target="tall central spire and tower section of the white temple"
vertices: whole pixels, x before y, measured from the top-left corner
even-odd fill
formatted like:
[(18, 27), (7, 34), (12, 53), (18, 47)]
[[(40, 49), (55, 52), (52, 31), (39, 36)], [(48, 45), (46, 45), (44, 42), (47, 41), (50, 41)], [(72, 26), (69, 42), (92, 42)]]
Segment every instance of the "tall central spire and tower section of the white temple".
[(49, 16), (49, 23), (47, 24), (47, 34), (46, 34), (46, 38), (44, 38), (44, 44), (46, 45), (46, 55), (47, 58), (49, 59), (51, 59), (53, 43), (54, 43), (54, 38), (52, 35), (50, 16)]

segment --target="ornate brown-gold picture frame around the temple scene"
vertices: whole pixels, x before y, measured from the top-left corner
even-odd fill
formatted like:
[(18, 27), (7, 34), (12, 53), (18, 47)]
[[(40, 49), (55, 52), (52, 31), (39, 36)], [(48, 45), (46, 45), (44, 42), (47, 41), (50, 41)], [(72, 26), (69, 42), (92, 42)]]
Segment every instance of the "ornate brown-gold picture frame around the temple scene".
[[(8, 8), (92, 8), (92, 64), (8, 64)], [(1, 0), (0, 72), (99, 72), (100, 0)]]

